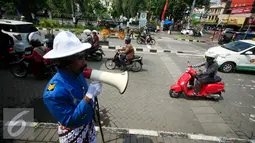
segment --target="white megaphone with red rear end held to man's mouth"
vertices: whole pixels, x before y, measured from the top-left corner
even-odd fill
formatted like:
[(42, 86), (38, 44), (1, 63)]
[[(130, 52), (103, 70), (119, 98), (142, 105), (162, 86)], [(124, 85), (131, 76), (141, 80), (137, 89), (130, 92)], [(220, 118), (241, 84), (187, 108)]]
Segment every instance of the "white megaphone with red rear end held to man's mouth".
[(101, 81), (103, 83), (116, 87), (120, 94), (123, 94), (128, 86), (128, 72), (123, 73), (110, 73), (91, 68), (85, 68), (83, 75), (87, 79)]

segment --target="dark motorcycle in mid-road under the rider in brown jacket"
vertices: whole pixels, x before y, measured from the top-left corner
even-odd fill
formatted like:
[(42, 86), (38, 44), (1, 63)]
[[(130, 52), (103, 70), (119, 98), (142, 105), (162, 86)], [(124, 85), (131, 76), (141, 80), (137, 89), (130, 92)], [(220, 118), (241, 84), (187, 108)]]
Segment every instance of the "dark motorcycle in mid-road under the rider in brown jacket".
[[(119, 56), (120, 56), (120, 52), (117, 51), (116, 54), (114, 55), (114, 58), (109, 58), (106, 60), (105, 67), (109, 70), (113, 70), (116, 67), (120, 68), (121, 64), (120, 64)], [(138, 72), (142, 70), (142, 65), (143, 65), (142, 59), (143, 57), (134, 55), (134, 58), (132, 60), (126, 62), (126, 66), (128, 70), (132, 70), (133, 72)]]

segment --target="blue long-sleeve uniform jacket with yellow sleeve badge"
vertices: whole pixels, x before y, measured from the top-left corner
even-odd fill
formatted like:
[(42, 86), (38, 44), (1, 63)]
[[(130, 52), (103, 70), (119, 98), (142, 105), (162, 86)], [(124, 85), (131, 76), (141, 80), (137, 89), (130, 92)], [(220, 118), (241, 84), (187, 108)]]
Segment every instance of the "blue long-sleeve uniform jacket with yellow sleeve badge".
[(67, 128), (76, 128), (93, 119), (93, 101), (83, 97), (88, 90), (86, 79), (59, 70), (47, 84), (43, 100), (55, 119)]

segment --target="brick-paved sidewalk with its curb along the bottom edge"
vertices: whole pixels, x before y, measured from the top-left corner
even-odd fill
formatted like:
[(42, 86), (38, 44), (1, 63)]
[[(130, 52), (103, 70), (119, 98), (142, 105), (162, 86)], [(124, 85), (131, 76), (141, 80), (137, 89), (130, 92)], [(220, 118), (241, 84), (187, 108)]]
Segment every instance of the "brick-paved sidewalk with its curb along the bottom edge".
[[(28, 127), (14, 140), (0, 140), (2, 143), (53, 143), (58, 142), (56, 124), (39, 124), (38, 127)], [(32, 130), (34, 129), (34, 132)], [(99, 128), (97, 143), (102, 143)], [(3, 131), (3, 130), (1, 130)], [(254, 143), (252, 140), (214, 137), (201, 134), (186, 134), (176, 132), (161, 132), (136, 129), (103, 128), (106, 143)]]

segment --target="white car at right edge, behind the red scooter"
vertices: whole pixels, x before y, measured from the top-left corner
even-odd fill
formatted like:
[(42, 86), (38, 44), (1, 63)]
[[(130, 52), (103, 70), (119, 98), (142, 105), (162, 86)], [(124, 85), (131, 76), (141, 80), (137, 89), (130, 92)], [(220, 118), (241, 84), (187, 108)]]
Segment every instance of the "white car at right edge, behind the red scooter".
[(255, 41), (239, 40), (208, 49), (206, 55), (217, 54), (219, 70), (225, 73), (234, 70), (255, 71)]

